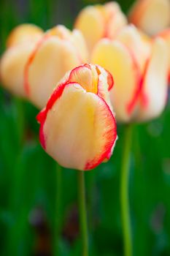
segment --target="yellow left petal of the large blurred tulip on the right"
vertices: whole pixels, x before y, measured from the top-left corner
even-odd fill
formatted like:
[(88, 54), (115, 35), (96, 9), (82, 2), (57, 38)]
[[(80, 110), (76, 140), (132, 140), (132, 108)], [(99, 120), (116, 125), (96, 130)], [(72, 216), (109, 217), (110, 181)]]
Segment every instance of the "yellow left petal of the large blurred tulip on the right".
[(110, 95), (117, 120), (129, 121), (141, 89), (141, 75), (133, 55), (121, 42), (102, 39), (93, 50), (92, 63), (113, 75), (115, 86)]

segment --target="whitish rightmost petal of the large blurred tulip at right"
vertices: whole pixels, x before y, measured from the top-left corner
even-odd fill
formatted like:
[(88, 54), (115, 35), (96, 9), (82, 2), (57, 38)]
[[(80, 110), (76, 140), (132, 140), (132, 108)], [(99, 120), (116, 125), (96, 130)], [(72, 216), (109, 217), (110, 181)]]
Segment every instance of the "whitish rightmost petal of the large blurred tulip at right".
[(139, 121), (155, 118), (163, 111), (168, 93), (168, 68), (166, 43), (161, 38), (155, 39), (144, 75)]

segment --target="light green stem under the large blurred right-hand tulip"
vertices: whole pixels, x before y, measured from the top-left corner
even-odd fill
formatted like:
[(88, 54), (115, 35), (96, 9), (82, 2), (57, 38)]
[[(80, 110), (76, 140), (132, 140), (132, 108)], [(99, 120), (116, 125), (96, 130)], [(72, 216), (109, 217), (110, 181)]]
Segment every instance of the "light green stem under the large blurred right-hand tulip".
[(122, 214), (123, 225), (123, 242), (124, 242), (124, 255), (132, 255), (132, 239), (131, 239), (131, 218), (129, 211), (128, 201), (128, 180), (129, 180), (129, 167), (130, 167), (130, 151), (131, 151), (131, 136), (132, 125), (125, 126), (125, 138), (123, 148), (123, 160), (120, 178), (120, 206)]

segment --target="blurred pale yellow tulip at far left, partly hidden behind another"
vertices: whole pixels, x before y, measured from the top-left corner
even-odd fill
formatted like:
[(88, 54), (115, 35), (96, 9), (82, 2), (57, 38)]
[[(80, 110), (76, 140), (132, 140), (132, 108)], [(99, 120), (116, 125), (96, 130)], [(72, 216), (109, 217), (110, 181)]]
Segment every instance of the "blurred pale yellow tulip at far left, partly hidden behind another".
[(24, 67), (42, 34), (42, 29), (31, 24), (20, 25), (9, 34), (7, 50), (1, 57), (0, 73), (3, 86), (12, 94), (26, 97), (23, 87)]

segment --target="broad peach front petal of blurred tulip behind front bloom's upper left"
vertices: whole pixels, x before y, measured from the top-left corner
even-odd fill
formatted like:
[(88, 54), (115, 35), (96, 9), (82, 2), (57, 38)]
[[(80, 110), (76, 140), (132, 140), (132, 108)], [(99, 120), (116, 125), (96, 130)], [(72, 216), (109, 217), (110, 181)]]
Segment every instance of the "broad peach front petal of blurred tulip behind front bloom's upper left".
[(69, 69), (79, 64), (77, 48), (71, 42), (54, 36), (46, 37), (26, 65), (25, 84), (28, 84), (31, 102), (43, 108), (56, 83)]

